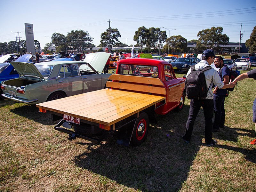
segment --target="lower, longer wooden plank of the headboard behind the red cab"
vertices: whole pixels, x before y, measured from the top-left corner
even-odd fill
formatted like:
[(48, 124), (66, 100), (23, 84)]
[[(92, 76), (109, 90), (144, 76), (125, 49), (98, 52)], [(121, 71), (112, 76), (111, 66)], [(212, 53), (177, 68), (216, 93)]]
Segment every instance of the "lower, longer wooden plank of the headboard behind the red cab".
[(153, 86), (141, 85), (141, 84), (119, 83), (119, 82), (113, 82), (113, 81), (108, 81), (106, 86), (115, 88), (115, 89), (124, 89), (124, 90), (130, 90), (130, 91), (166, 95), (166, 90), (164, 87), (153, 87)]

